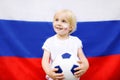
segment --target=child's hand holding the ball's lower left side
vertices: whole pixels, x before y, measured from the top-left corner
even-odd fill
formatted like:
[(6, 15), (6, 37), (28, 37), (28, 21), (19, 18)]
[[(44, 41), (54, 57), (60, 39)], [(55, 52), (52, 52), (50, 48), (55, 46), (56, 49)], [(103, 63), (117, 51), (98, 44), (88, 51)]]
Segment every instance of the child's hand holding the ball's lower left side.
[(56, 71), (58, 71), (57, 68), (54, 68), (54, 69), (50, 70), (49, 73), (48, 73), (48, 76), (50, 78), (52, 78), (53, 80), (63, 80), (64, 75), (62, 73), (56, 73)]

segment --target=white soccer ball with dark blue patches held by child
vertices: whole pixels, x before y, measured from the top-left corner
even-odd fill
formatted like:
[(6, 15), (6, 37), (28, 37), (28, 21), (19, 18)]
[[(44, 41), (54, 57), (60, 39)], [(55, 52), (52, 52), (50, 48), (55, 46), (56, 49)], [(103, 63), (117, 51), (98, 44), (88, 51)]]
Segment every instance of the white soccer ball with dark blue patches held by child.
[(78, 67), (78, 57), (70, 53), (63, 53), (58, 55), (52, 63), (52, 68), (58, 68), (56, 73), (63, 73), (65, 80), (79, 80), (74, 76), (76, 72), (74, 68)]

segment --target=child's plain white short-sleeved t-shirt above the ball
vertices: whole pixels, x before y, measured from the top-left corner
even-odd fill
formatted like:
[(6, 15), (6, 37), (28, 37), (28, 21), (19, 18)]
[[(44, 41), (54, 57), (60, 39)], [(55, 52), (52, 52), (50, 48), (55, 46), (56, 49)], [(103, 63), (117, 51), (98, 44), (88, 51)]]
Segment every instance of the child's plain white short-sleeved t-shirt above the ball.
[(51, 53), (51, 62), (58, 54), (70, 53), (77, 57), (78, 48), (82, 48), (82, 42), (78, 37), (69, 36), (68, 39), (61, 40), (56, 35), (48, 38), (42, 46)]

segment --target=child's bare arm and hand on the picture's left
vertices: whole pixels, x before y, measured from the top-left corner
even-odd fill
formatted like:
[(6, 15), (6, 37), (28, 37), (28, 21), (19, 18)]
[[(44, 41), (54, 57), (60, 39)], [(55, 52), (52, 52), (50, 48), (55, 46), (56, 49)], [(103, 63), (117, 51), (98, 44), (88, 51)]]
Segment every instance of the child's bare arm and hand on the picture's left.
[(50, 52), (48, 52), (47, 50), (44, 50), (44, 54), (43, 54), (43, 58), (42, 58), (42, 67), (43, 70), (45, 71), (45, 73), (51, 77), (52, 79), (56, 80), (56, 79), (63, 79), (63, 74), (57, 74), (55, 73), (55, 71), (57, 71), (58, 69), (52, 69), (50, 67)]

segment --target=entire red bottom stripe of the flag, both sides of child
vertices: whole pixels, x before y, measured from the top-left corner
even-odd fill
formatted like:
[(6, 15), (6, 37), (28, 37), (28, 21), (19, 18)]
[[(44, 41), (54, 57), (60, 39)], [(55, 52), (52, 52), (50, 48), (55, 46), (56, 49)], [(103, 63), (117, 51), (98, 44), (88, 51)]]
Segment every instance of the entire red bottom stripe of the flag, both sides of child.
[[(120, 80), (120, 55), (88, 58), (81, 80)], [(0, 57), (0, 80), (45, 80), (41, 58)]]

